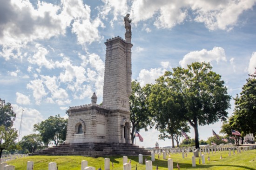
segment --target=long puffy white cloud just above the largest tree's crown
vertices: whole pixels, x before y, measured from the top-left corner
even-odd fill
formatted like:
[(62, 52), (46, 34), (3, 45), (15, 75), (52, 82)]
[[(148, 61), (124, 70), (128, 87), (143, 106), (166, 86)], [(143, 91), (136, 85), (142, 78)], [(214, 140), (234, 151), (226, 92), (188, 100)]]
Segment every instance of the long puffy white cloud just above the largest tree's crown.
[(207, 51), (202, 49), (201, 51), (193, 51), (186, 54), (183, 59), (179, 62), (182, 67), (186, 67), (192, 62), (211, 62), (216, 61), (227, 61), (225, 50), (222, 47), (214, 47), (212, 50)]

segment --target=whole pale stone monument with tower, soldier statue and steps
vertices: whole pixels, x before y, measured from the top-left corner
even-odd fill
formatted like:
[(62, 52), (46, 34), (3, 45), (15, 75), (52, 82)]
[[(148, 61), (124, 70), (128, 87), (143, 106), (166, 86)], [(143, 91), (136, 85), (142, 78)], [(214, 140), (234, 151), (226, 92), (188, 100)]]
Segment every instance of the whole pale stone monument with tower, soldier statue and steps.
[(150, 155), (131, 142), (129, 96), (131, 87), (131, 20), (125, 21), (125, 40), (107, 39), (102, 105), (97, 96), (91, 104), (69, 107), (65, 144), (34, 155)]

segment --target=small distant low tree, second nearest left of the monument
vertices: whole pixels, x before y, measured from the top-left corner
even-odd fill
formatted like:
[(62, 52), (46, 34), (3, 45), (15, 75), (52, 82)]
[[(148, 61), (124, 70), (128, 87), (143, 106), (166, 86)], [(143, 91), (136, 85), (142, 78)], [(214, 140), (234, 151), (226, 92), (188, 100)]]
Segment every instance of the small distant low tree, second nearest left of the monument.
[(29, 153), (34, 153), (42, 147), (42, 137), (35, 133), (24, 136), (20, 141), (20, 146), (22, 149), (27, 149)]

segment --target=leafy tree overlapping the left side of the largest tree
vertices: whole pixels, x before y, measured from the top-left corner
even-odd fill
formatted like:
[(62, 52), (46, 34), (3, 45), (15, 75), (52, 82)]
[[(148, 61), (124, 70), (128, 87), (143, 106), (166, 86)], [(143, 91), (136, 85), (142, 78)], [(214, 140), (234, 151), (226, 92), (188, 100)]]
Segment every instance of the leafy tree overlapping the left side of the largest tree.
[(183, 121), (181, 114), (183, 101), (182, 96), (169, 88), (166, 79), (162, 76), (152, 86), (149, 96), (149, 110), (155, 122), (155, 128), (160, 131), (159, 138), (172, 140), (172, 147), (175, 147), (174, 140), (179, 146), (181, 131), (187, 132), (189, 127)]

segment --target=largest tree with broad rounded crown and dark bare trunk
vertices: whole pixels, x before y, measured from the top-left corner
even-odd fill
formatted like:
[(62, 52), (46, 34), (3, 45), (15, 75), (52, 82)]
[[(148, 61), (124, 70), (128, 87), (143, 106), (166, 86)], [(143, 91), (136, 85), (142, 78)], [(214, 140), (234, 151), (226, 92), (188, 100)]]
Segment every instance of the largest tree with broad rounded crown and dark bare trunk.
[(195, 147), (199, 148), (198, 126), (227, 118), (230, 96), (224, 81), (205, 62), (192, 63), (188, 68), (173, 68), (173, 72), (166, 72), (163, 79), (175, 92), (174, 96), (181, 97), (179, 114), (194, 128)]

